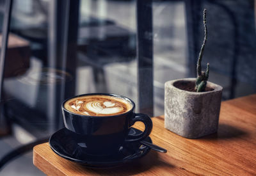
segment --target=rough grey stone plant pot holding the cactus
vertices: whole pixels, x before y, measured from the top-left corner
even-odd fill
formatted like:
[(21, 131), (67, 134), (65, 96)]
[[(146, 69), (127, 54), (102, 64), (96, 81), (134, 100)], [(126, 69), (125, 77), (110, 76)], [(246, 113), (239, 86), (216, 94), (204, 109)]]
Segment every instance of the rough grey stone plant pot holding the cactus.
[(164, 127), (184, 138), (200, 138), (217, 132), (222, 87), (207, 81), (208, 92), (181, 90), (195, 84), (195, 78), (176, 79), (164, 84)]

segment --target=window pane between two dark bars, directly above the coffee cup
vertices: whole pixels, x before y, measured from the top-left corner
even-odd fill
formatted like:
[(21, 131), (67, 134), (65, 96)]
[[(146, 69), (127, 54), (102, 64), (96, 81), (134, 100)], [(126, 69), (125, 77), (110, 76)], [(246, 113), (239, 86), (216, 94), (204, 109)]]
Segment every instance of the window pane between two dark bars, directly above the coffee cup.
[(81, 1), (76, 93), (137, 102), (136, 1)]

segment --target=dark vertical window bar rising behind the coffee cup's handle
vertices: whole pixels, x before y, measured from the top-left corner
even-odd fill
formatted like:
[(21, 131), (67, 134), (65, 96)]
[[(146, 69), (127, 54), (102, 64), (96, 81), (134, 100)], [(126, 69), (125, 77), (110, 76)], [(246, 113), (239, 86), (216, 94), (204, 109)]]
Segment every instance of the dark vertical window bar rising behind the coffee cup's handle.
[(137, 0), (139, 111), (154, 115), (152, 0)]

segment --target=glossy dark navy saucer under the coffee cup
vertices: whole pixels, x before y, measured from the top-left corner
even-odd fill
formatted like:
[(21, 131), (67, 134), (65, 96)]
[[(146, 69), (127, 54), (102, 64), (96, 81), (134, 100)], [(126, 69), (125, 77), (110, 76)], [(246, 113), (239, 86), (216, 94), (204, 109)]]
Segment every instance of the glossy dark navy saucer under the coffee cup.
[[(140, 134), (138, 129), (131, 128), (129, 134)], [(66, 128), (52, 134), (49, 139), (51, 149), (65, 159), (83, 164), (90, 168), (109, 168), (120, 164), (128, 163), (145, 156), (150, 148), (138, 143), (125, 143), (111, 156), (92, 156), (84, 152), (85, 143), (77, 143), (77, 134), (68, 131)], [(152, 143), (150, 137), (144, 141)]]

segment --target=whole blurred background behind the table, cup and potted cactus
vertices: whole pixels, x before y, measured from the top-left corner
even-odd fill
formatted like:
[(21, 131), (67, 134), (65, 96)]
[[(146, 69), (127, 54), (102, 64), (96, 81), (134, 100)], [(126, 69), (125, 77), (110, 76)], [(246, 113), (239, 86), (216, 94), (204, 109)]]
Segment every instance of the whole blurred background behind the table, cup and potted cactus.
[(209, 81), (223, 86), (223, 100), (256, 93), (255, 1), (0, 2), (1, 47), (10, 24), (0, 64), (0, 175), (44, 175), (32, 147), (63, 127), (61, 102), (73, 95), (117, 93), (137, 112), (163, 115), (164, 83), (196, 77), (204, 8)]

